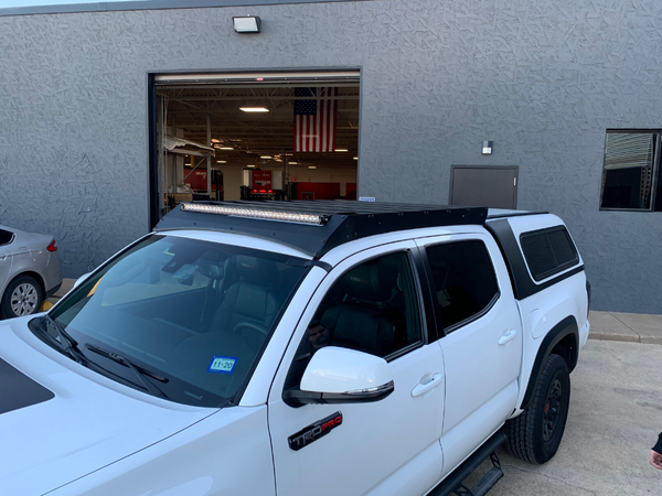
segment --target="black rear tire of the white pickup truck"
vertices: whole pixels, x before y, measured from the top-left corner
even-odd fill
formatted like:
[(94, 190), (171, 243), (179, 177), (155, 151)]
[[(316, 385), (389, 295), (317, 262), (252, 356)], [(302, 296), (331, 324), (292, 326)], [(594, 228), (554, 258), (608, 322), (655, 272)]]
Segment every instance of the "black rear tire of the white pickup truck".
[(570, 373), (558, 355), (549, 355), (524, 412), (505, 423), (505, 448), (514, 456), (541, 464), (556, 454), (568, 419)]

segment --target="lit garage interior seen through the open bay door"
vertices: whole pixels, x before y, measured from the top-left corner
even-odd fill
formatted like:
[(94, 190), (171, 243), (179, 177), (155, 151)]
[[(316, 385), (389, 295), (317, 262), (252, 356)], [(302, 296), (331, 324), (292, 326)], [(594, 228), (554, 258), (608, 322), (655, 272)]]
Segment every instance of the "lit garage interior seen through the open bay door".
[[(161, 214), (191, 200), (356, 198), (357, 72), (174, 75), (154, 84)], [(302, 111), (325, 119), (323, 105), (335, 116), (327, 123), (334, 141), (295, 122)]]

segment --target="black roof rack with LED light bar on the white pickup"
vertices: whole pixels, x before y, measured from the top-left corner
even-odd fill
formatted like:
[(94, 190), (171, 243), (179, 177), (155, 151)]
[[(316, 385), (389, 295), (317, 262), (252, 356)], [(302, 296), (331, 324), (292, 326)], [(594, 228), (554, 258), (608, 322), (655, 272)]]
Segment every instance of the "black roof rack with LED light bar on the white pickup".
[(483, 225), (485, 207), (354, 201), (193, 202), (166, 215), (156, 231), (238, 233), (295, 247), (313, 258), (344, 242), (395, 230)]

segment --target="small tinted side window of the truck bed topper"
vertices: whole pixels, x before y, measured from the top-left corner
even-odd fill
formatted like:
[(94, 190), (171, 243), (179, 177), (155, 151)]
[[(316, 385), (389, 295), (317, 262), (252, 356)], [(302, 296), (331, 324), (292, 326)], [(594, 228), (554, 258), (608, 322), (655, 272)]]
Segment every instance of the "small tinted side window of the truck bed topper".
[(541, 229), (520, 236), (522, 251), (533, 279), (541, 281), (579, 261), (577, 249), (565, 227)]

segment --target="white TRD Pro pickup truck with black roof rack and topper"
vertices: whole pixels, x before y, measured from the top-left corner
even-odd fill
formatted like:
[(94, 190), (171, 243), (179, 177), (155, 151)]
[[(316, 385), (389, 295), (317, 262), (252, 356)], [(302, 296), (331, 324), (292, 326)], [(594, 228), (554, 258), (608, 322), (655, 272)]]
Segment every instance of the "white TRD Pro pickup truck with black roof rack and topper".
[(589, 292), (551, 214), (182, 204), (0, 324), (0, 494), (484, 494), (555, 454)]

